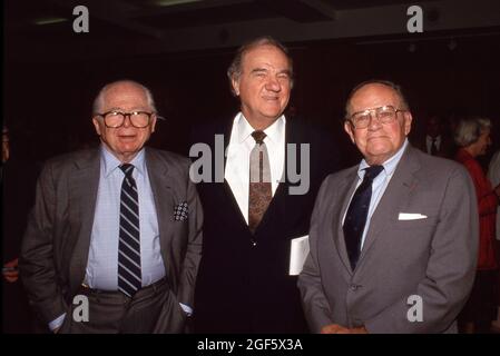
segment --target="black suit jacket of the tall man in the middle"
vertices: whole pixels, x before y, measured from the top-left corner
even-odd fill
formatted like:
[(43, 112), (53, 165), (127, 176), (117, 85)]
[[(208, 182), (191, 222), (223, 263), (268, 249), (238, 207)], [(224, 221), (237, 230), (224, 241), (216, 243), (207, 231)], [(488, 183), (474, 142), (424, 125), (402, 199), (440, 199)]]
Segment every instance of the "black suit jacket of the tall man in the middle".
[[(231, 130), (232, 121), (207, 126), (194, 141), (214, 148), (219, 134), (227, 147)], [(198, 185), (205, 224), (195, 293), (197, 333), (306, 332), (297, 277), (288, 275), (291, 240), (307, 235), (317, 189), (336, 170), (337, 151), (327, 135), (302, 122), (287, 120), (285, 130), (287, 144), (311, 144), (311, 187), (305, 195), (290, 195), (288, 178), (280, 184), (255, 236), (226, 181)]]

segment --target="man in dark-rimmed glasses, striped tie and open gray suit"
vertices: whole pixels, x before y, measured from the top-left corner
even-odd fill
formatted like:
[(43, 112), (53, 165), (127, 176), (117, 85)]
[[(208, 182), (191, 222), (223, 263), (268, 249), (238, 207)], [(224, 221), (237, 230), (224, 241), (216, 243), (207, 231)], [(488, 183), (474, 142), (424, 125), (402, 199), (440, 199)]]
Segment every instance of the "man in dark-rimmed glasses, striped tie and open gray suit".
[(55, 333), (182, 333), (203, 212), (189, 160), (145, 148), (157, 115), (130, 80), (94, 102), (101, 145), (49, 160), (21, 250), (29, 300)]

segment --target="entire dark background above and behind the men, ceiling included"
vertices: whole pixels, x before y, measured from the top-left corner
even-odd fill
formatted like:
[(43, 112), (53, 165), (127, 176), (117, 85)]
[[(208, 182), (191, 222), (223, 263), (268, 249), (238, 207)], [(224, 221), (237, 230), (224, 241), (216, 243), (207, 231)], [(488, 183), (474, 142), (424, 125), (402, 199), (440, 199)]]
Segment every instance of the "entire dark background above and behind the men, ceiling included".
[[(359, 158), (340, 123), (345, 98), (370, 78), (402, 85), (413, 139), (431, 113), (499, 120), (498, 0), (418, 2), (422, 33), (406, 28), (415, 3), (399, 0), (166, 2), (6, 0), (2, 99), (12, 154), (42, 161), (97, 142), (91, 101), (122, 78), (150, 87), (167, 118), (150, 144), (185, 154), (193, 125), (234, 117), (226, 68), (238, 46), (262, 34), (290, 47), (291, 106), (339, 141), (345, 165)], [(88, 9), (88, 33), (72, 28), (79, 4)], [(47, 20), (53, 23), (40, 24)], [(500, 122), (493, 149), (499, 131)]]

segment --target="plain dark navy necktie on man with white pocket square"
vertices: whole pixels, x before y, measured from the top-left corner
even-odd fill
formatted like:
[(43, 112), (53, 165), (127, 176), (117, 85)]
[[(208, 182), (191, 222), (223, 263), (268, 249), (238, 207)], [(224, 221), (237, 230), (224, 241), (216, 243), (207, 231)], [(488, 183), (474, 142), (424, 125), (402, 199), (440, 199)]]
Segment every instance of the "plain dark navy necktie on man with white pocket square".
[(361, 238), (363, 237), (370, 200), (372, 198), (372, 182), (382, 169), (382, 166), (365, 168), (363, 181), (354, 192), (347, 214), (345, 215), (343, 230), (349, 260), (353, 270), (356, 267), (361, 254)]

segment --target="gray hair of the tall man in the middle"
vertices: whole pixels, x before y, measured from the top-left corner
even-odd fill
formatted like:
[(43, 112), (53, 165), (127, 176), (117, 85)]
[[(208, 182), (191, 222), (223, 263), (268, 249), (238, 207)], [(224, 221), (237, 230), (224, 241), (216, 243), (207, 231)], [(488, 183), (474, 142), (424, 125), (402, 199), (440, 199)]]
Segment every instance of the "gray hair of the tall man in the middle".
[(293, 60), (290, 57), (288, 49), (284, 44), (282, 44), (281, 42), (278, 42), (277, 40), (272, 38), (271, 36), (263, 36), (263, 37), (253, 39), (253, 40), (246, 42), (245, 44), (243, 44), (242, 47), (239, 47), (238, 50), (236, 51), (235, 57), (233, 58), (233, 61), (231, 62), (229, 68), (227, 68), (227, 78), (229, 79), (229, 86), (231, 86), (231, 90), (232, 90), (233, 95), (236, 95), (236, 92), (234, 91), (232, 80), (238, 79), (239, 76), (242, 75), (243, 57), (249, 50), (252, 50), (256, 47), (261, 47), (261, 46), (273, 46), (273, 47), (277, 48), (278, 50), (281, 50), (286, 56), (286, 58), (288, 59), (288, 67), (290, 67), (288, 68), (290, 69), (290, 79), (291, 79), (290, 85), (291, 85), (291, 88), (293, 87)]

